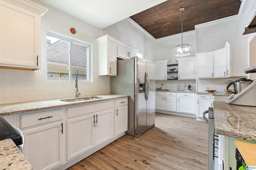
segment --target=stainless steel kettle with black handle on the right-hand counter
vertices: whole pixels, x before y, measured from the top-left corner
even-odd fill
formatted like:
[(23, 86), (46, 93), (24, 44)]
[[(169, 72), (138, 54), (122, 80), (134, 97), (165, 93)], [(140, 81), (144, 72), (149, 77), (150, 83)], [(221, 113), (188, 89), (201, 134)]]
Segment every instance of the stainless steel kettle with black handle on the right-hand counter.
[[(242, 92), (246, 87), (248, 87), (252, 82), (253, 81), (251, 79), (239, 78), (238, 80), (234, 80), (233, 82), (230, 82), (227, 86), (227, 90), (233, 84), (234, 92), (232, 92), (232, 93), (238, 94), (238, 93)], [(230, 90), (228, 90), (228, 91), (230, 91)]]

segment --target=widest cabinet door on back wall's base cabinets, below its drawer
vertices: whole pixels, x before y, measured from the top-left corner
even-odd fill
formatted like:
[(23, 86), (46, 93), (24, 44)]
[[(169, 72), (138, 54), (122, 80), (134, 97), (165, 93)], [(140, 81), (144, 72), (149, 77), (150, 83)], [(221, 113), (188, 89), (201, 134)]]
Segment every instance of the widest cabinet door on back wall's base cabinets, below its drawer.
[(195, 114), (195, 98), (177, 98), (177, 111)]

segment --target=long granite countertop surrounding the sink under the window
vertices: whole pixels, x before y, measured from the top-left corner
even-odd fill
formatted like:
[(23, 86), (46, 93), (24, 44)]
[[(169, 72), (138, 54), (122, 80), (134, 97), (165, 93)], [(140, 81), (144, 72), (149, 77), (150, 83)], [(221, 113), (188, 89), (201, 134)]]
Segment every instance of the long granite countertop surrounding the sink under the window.
[[(0, 104), (0, 115), (12, 115), (18, 113), (26, 113), (30, 111), (39, 111), (44, 109), (52, 109), (57, 107), (64, 106), (74, 106), (78, 104), (88, 104), (92, 102), (102, 102), (106, 100), (113, 100), (118, 98), (129, 97), (127, 95), (120, 94), (105, 94), (105, 95), (95, 95), (100, 97), (99, 99), (94, 100), (84, 100), (78, 102), (64, 102), (60, 101), (61, 99), (52, 99), (52, 100), (39, 100), (39, 101), (31, 101), (31, 102), (17, 102), (17, 103), (7, 103)], [(87, 97), (87, 96), (84, 96)], [(79, 97), (82, 98), (82, 97)]]

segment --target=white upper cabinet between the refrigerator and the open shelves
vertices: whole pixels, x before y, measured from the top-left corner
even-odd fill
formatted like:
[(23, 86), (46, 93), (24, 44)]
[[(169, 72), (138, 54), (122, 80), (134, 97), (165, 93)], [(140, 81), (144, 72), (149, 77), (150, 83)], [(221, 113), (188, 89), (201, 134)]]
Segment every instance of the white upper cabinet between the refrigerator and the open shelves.
[(154, 61), (155, 63), (155, 80), (167, 80), (168, 60)]

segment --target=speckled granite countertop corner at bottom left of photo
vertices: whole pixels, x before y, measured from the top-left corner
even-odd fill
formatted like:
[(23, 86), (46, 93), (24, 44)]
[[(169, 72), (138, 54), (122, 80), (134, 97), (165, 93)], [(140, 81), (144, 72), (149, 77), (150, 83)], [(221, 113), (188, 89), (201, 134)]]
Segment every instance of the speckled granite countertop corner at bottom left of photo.
[(12, 139), (0, 141), (0, 169), (32, 170), (32, 166), (14, 144)]

